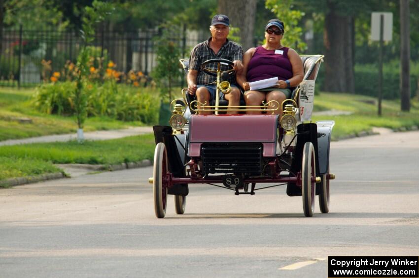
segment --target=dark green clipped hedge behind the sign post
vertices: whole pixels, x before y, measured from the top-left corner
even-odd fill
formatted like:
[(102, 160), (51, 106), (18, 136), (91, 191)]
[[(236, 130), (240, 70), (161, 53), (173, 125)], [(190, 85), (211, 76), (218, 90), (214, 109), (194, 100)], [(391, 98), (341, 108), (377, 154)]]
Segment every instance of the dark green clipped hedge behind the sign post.
[[(376, 64), (355, 65), (355, 93), (369, 96), (378, 96), (378, 67)], [(411, 96), (418, 87), (418, 74), (410, 77)], [(383, 98), (400, 98), (400, 71), (394, 63), (383, 66)]]

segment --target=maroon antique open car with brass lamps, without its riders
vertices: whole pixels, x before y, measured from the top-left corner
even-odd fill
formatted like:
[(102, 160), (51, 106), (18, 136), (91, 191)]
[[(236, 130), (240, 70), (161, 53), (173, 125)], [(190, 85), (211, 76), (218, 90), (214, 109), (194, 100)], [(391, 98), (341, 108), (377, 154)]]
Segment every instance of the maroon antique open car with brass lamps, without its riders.
[[(215, 103), (193, 100), (186, 89), (183, 99), (172, 102), (170, 126), (153, 127), (154, 208), (158, 218), (166, 214), (168, 194), (175, 196), (175, 211), (183, 214), (188, 185), (209, 184), (254, 195), (255, 191), (286, 185), (287, 195), (302, 196), (305, 216), (313, 216), (315, 195), (320, 211), (329, 212), (329, 150), (333, 121), (311, 122), (314, 81), (322, 55), (301, 56), (304, 80), (283, 103), (271, 101), (260, 106), (230, 109), (238, 114), (225, 114), (226, 103), (218, 100), (219, 92), (229, 93), (227, 77), (235, 74), (233, 63), (213, 59), (202, 64), (202, 70), (215, 75)], [(188, 60), (180, 60), (185, 72)], [(227, 69), (226, 69), (227, 67)], [(282, 115), (275, 111), (283, 106)], [(202, 111), (211, 115), (202, 115)], [(246, 111), (261, 110), (249, 115)], [(262, 185), (261, 184), (274, 184)], [(259, 185), (259, 186), (257, 186)]]

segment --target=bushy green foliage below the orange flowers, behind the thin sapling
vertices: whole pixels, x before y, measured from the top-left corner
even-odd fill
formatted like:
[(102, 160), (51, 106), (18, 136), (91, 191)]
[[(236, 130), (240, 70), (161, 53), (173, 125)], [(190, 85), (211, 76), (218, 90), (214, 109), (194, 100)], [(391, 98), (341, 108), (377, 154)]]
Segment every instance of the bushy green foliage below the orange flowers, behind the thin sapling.
[[(47, 114), (73, 115), (75, 82), (45, 83), (36, 89), (35, 107)], [(107, 116), (121, 121), (141, 121), (156, 124), (160, 96), (145, 88), (116, 84), (88, 82), (83, 86), (87, 97), (88, 116)]]

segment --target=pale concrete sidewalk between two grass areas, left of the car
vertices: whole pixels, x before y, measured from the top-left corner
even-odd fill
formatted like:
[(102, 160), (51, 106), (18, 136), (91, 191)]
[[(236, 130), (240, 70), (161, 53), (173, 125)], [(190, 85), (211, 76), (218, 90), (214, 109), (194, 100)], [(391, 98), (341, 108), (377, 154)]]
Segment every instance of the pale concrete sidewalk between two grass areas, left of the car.
[[(140, 135), (146, 133), (152, 133), (153, 127), (151, 126), (138, 126), (130, 127), (127, 129), (116, 129), (116, 130), (101, 130), (101, 131), (92, 131), (85, 132), (85, 140), (108, 140), (116, 139), (133, 135)], [(31, 144), (31, 143), (48, 143), (48, 142), (66, 142), (71, 140), (76, 140), (77, 134), (60, 134), (60, 135), (47, 135), (40, 137), (32, 137), (26, 139), (12, 139), (5, 140), (0, 142), (0, 146), (10, 146), (10, 145), (19, 145), (19, 144)]]

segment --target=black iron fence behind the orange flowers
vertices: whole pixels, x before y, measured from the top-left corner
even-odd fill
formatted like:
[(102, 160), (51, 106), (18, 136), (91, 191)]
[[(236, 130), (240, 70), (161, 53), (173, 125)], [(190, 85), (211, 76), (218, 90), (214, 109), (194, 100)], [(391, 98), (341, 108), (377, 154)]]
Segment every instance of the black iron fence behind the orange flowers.
[[(142, 71), (148, 75), (156, 65), (155, 41), (158, 30), (106, 31), (96, 33), (92, 46), (97, 55), (107, 57), (121, 72)], [(208, 34), (183, 31), (175, 34), (182, 56)], [(33, 86), (66, 62), (75, 63), (82, 40), (72, 31), (3, 29), (0, 41), (0, 86)], [(50, 61), (50, 62), (49, 62)]]

